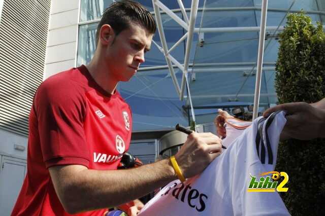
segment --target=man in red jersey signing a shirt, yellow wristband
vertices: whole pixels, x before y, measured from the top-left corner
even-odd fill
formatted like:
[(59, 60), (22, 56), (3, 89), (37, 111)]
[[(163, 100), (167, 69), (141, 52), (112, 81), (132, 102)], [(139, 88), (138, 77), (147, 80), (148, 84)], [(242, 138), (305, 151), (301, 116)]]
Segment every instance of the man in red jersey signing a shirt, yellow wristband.
[(143, 207), (137, 198), (201, 173), (221, 153), (217, 136), (193, 132), (175, 155), (177, 166), (165, 159), (116, 170), (132, 132), (131, 110), (116, 86), (136, 74), (155, 28), (140, 4), (113, 3), (99, 23), (90, 63), (41, 84), (29, 116), (27, 174), (12, 215), (103, 215), (123, 203), (136, 215)]

